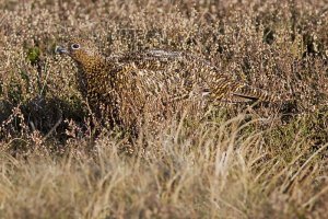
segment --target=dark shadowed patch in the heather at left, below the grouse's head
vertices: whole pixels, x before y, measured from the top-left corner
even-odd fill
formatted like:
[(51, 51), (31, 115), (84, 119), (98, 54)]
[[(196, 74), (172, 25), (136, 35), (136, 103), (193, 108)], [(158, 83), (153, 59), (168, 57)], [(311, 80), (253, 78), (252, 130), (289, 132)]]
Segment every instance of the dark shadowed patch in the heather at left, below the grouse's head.
[[(10, 135), (20, 136), (22, 131), (39, 131), (44, 139), (54, 138), (60, 143), (68, 139), (68, 123), (73, 120), (81, 128), (85, 127), (86, 110), (80, 102), (75, 105), (57, 97), (37, 96), (26, 103), (13, 104), (0, 102), (0, 139)], [(19, 112), (19, 113), (17, 113)], [(25, 130), (23, 130), (25, 129)]]

